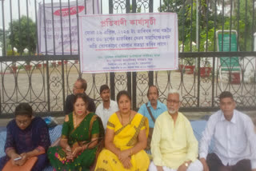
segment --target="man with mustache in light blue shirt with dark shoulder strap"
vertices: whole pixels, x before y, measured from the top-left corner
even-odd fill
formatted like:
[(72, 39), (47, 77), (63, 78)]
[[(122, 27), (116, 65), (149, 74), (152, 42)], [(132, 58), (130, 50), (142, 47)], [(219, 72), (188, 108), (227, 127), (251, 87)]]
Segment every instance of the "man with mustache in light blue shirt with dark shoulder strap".
[(154, 129), (154, 121), (161, 113), (165, 112), (167, 108), (165, 104), (158, 101), (159, 92), (158, 88), (155, 85), (150, 85), (146, 95), (149, 101), (143, 104), (140, 109), (138, 109), (138, 113), (141, 113), (149, 120), (150, 133), (149, 137), (147, 138), (146, 149), (150, 149), (151, 136)]

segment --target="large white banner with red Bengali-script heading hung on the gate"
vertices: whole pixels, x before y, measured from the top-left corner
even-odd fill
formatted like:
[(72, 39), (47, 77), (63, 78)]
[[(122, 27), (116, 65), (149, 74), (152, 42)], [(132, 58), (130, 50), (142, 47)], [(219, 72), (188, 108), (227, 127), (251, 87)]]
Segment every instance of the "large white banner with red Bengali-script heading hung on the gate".
[(178, 69), (174, 13), (79, 16), (84, 73)]

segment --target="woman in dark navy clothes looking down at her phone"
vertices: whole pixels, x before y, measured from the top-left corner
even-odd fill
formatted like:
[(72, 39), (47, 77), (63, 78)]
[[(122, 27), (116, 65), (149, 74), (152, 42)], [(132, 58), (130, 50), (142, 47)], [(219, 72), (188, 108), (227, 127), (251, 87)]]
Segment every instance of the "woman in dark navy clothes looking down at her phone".
[[(15, 109), (15, 119), (7, 125), (6, 156), (0, 159), (0, 170), (11, 160), (13, 165), (25, 165), (30, 157), (38, 157), (32, 170), (42, 170), (47, 164), (46, 151), (50, 137), (46, 122), (41, 117), (32, 116), (28, 103), (20, 103)], [(22, 157), (18, 161), (15, 158)]]

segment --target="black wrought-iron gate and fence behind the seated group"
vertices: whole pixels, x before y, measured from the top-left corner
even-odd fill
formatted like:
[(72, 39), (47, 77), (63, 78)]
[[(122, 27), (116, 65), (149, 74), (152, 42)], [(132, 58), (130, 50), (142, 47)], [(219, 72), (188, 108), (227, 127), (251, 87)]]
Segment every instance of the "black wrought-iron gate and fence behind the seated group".
[[(38, 53), (38, 2), (45, 6), (46, 3), (70, 4), (69, 0), (24, 2), (1, 2), (0, 117), (10, 117), (15, 106), (22, 101), (29, 102), (40, 115), (62, 115), (66, 95), (72, 93), (78, 77), (86, 79), (86, 93), (94, 98), (97, 105), (101, 102), (99, 87), (102, 84), (110, 85), (112, 99), (118, 91), (127, 89), (132, 95), (133, 109), (138, 109), (147, 101), (147, 89), (154, 84), (158, 86), (159, 99), (164, 103), (168, 89), (180, 90), (182, 110), (214, 110), (218, 107), (218, 95), (224, 90), (234, 94), (238, 108), (256, 109), (254, 0), (102, 0), (102, 14), (178, 14), (179, 70), (107, 74), (82, 74), (79, 54), (64, 54), (63, 51), (62, 54)], [(78, 1), (74, 2), (78, 4)], [(86, 6), (87, 1), (82, 2)], [(23, 6), (26, 10), (22, 9)], [(22, 11), (26, 11), (25, 14)], [(26, 16), (26, 22), (22, 22), (22, 16)], [(34, 23), (32, 27), (30, 18)], [(231, 41), (233, 30), (236, 31), (235, 45)], [(14, 32), (18, 33), (17, 37)], [(221, 37), (218, 38), (217, 33)], [(223, 43), (225, 34), (230, 40), (226, 44)], [(31, 46), (33, 41), (34, 46)], [(16, 46), (17, 42), (26, 44), (29, 51), (24, 52), (24, 46)], [(18, 52), (15, 52), (14, 46)], [(224, 52), (226, 46), (228, 50)], [(232, 49), (233, 46), (237, 47), (236, 50)]]

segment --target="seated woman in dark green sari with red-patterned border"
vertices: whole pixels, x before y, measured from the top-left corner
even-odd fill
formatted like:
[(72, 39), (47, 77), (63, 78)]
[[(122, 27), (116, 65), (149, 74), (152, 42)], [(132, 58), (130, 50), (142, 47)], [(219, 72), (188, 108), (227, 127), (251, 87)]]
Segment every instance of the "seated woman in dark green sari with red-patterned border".
[(104, 133), (100, 118), (87, 110), (86, 94), (74, 97), (74, 112), (66, 115), (60, 146), (50, 147), (54, 170), (89, 170), (94, 163), (98, 138)]

